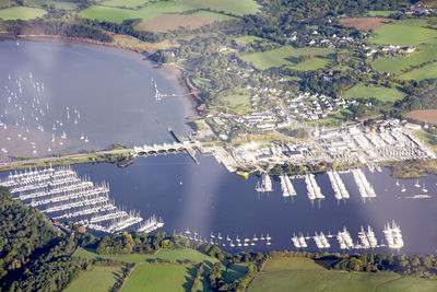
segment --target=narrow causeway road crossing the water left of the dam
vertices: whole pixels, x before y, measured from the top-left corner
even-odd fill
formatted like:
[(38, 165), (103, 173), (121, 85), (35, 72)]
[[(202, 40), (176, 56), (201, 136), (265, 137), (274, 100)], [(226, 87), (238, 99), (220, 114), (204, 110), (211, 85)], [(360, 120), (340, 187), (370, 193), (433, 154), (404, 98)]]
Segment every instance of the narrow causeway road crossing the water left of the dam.
[(92, 153), (76, 153), (76, 154), (67, 154), (62, 156), (37, 157), (25, 161), (16, 160), (9, 162), (0, 162), (0, 168), (14, 168), (22, 165), (33, 165), (33, 164), (50, 163), (59, 161), (84, 160), (102, 155), (129, 154), (131, 152), (133, 152), (133, 149), (116, 149), (116, 150), (96, 151)]

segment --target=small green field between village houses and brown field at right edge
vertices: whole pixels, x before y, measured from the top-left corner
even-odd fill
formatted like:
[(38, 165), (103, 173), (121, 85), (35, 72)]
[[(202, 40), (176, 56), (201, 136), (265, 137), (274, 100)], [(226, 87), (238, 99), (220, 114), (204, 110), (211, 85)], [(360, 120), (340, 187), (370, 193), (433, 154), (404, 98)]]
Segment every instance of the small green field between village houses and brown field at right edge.
[(397, 89), (388, 89), (382, 86), (366, 86), (364, 83), (358, 83), (349, 91), (346, 91), (342, 97), (344, 98), (371, 98), (375, 97), (381, 102), (394, 102), (405, 96), (403, 92)]

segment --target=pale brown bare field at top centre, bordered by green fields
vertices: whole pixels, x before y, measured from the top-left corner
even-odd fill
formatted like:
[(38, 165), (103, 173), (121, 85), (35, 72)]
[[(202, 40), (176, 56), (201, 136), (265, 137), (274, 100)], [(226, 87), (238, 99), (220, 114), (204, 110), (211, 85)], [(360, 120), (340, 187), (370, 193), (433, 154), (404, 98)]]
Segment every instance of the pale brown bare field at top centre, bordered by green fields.
[(198, 15), (162, 14), (153, 20), (140, 23), (135, 26), (135, 30), (164, 33), (181, 27), (199, 28), (213, 22), (214, 20)]

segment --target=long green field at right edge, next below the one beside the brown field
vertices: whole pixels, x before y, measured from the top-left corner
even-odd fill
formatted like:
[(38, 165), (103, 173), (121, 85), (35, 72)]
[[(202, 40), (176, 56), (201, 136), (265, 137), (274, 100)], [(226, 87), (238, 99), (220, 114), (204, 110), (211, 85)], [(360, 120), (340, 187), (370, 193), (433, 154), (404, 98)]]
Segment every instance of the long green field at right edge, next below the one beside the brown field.
[[(374, 61), (373, 67), (379, 72), (389, 72), (400, 74), (402, 71), (408, 70), (412, 66), (418, 66), (430, 60), (437, 60), (437, 42), (429, 42), (427, 44), (417, 45), (415, 48), (418, 50), (412, 52), (410, 56), (385, 57)], [(412, 72), (414, 72), (413, 69)]]

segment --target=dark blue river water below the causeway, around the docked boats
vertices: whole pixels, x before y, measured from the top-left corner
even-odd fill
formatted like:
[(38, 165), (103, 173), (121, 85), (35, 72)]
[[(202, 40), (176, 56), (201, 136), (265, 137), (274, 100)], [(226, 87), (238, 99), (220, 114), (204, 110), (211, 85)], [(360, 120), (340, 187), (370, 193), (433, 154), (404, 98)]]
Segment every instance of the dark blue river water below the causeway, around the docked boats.
[[(400, 180), (406, 191), (395, 185), (389, 170), (383, 173), (365, 172), (373, 184), (377, 198), (363, 202), (352, 174), (341, 174), (351, 199), (340, 203), (326, 174), (317, 175), (326, 199), (310, 203), (304, 179), (294, 179), (297, 197), (284, 199), (279, 182), (273, 182), (274, 191), (258, 196), (256, 176), (244, 179), (228, 173), (212, 156), (200, 156), (200, 165), (185, 154), (138, 159), (127, 168), (110, 164), (75, 165), (81, 175), (90, 175), (94, 182), (110, 182), (111, 197), (116, 203), (128, 209), (140, 210), (141, 214), (161, 215), (164, 230), (172, 233), (198, 231), (203, 237), (221, 232), (232, 237), (251, 237), (256, 233), (270, 233), (272, 245), (257, 245), (253, 249), (293, 248), (291, 236), (303, 232), (335, 233), (346, 226), (354, 241), (361, 225), (370, 224), (378, 242), (383, 240), (382, 229), (391, 220), (402, 229), (406, 254), (437, 253), (437, 177), (421, 178), (426, 184), (430, 199), (406, 199), (423, 194), (414, 186), (415, 179)], [(307, 250), (316, 250), (312, 240)], [(338, 250), (334, 238), (330, 250)], [(229, 249), (227, 249), (229, 250)], [(232, 249), (238, 250), (238, 249)], [(377, 248), (377, 252), (389, 252)]]

